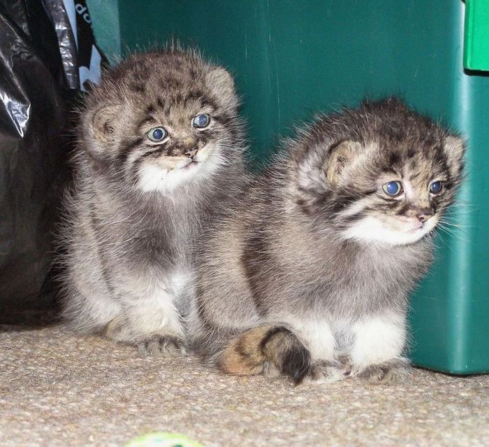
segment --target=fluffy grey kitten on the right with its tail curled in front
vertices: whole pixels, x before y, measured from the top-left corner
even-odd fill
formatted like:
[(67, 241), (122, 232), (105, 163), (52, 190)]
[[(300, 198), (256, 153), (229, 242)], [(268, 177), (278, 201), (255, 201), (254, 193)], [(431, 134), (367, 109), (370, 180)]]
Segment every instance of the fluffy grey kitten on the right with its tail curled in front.
[(192, 343), (231, 374), (406, 376), (408, 294), (465, 144), (396, 99), (321, 116), (219, 225)]

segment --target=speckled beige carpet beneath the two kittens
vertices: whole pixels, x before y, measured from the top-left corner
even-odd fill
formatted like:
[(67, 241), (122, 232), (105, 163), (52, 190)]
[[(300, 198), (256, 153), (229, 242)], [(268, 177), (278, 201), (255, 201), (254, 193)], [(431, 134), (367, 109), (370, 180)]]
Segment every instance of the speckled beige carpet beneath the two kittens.
[(0, 334), (0, 446), (124, 446), (156, 430), (205, 446), (489, 446), (489, 376), (293, 388), (57, 328)]

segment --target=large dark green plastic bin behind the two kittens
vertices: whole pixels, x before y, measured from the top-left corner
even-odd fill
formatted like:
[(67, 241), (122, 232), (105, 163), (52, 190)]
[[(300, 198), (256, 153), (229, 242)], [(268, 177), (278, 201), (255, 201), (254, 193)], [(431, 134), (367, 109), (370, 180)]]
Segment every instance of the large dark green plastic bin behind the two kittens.
[(258, 158), (314, 112), (355, 106), (365, 95), (400, 94), (467, 137), (467, 181), (452, 225), (439, 231), (437, 260), (411, 299), (409, 355), (453, 374), (489, 371), (489, 77), (462, 65), (465, 3), (88, 3), (109, 57), (176, 36), (228, 66)]

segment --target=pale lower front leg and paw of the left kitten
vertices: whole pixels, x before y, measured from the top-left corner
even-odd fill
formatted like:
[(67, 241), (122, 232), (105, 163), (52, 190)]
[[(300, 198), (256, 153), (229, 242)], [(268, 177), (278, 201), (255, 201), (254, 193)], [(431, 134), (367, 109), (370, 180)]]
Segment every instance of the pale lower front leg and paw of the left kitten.
[(184, 353), (181, 318), (166, 291), (126, 302), (123, 313), (105, 327), (104, 333), (112, 340), (136, 344), (143, 353)]

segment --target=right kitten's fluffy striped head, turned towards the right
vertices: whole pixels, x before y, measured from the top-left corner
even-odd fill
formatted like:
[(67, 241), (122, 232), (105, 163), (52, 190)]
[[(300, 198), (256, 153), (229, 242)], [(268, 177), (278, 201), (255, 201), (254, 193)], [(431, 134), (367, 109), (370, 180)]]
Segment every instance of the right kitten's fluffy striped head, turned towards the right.
[(430, 233), (460, 184), (465, 143), (397, 99), (323, 116), (295, 151), (298, 205), (342, 239), (388, 245)]

